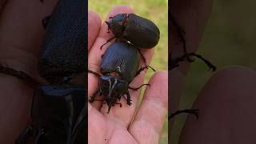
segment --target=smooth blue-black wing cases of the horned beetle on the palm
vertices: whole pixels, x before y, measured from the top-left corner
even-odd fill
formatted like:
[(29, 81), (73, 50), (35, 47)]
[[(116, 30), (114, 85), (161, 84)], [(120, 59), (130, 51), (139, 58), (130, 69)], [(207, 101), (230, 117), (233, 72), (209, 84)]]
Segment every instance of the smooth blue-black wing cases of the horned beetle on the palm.
[(114, 42), (107, 48), (101, 65), (101, 73), (121, 71), (122, 79), (130, 83), (140, 66), (140, 54), (134, 46), (125, 42)]

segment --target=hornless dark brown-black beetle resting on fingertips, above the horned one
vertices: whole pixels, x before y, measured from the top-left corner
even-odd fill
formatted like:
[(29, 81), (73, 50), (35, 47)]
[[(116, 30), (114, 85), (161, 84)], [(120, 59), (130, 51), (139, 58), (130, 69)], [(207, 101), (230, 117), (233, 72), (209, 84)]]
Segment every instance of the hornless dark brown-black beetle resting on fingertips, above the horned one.
[(134, 44), (134, 46), (150, 49), (158, 44), (160, 38), (158, 26), (149, 19), (136, 14), (117, 14), (110, 17), (110, 21), (106, 24), (114, 34), (114, 37), (108, 39), (106, 43), (114, 38), (119, 38)]

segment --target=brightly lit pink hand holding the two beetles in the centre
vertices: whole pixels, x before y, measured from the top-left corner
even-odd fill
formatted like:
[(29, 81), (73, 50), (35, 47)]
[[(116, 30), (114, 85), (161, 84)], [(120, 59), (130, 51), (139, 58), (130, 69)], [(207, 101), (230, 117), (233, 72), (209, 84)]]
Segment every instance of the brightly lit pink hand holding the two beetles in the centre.
[[(133, 10), (128, 6), (115, 6), (110, 11), (106, 20), (110, 16), (120, 13), (132, 13)], [(99, 72), (99, 66), (102, 62), (102, 54), (106, 48), (110, 46), (108, 43), (100, 47), (106, 40), (112, 37), (112, 34), (107, 33), (107, 26), (104, 22), (103, 25), (101, 18), (98, 14), (89, 11), (89, 42), (88, 51), (89, 69)], [(146, 58), (146, 62), (150, 63), (153, 56), (154, 49), (142, 50), (142, 54)], [(141, 62), (143, 64), (143, 62)], [(142, 71), (130, 86), (141, 86), (146, 70)], [(167, 112), (167, 72), (157, 71), (150, 78), (150, 86), (146, 87), (142, 104), (135, 114), (136, 104), (140, 90), (130, 90), (132, 105), (126, 105), (126, 102), (121, 98), (122, 107), (116, 105), (111, 108), (110, 114), (106, 114), (107, 106), (101, 102), (94, 102), (88, 104), (88, 133), (89, 143), (158, 143), (159, 136), (162, 131), (162, 126), (166, 118)], [(98, 77), (94, 74), (88, 74), (88, 95), (91, 96), (97, 89)], [(90, 97), (89, 97), (90, 98)], [(135, 114), (135, 115), (134, 115)], [(133, 119), (134, 118), (134, 119)]]

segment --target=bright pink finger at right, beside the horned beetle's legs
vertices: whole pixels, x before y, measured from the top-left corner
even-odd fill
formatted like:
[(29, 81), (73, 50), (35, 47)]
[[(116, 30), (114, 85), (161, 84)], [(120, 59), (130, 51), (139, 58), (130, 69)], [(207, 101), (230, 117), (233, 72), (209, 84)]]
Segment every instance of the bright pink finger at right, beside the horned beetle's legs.
[(150, 78), (150, 85), (146, 88), (138, 114), (136, 114), (129, 129), (130, 134), (134, 136), (138, 143), (158, 143), (166, 118), (168, 103), (167, 72), (156, 72)]

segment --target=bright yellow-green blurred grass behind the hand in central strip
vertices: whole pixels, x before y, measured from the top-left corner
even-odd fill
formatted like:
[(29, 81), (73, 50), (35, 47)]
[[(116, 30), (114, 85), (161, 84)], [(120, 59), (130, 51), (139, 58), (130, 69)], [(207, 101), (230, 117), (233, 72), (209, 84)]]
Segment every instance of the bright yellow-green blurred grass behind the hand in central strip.
[[(154, 58), (150, 66), (155, 70), (167, 70), (168, 67), (168, 1), (167, 0), (89, 0), (89, 10), (97, 12), (104, 22), (106, 15), (117, 5), (130, 6), (135, 14), (148, 18), (153, 21), (160, 29), (160, 41), (154, 50)], [(148, 70), (146, 74), (146, 82), (154, 74), (152, 70)], [(167, 80), (167, 79), (166, 79)], [(160, 138), (161, 144), (168, 143), (168, 120), (166, 118), (165, 125)]]

